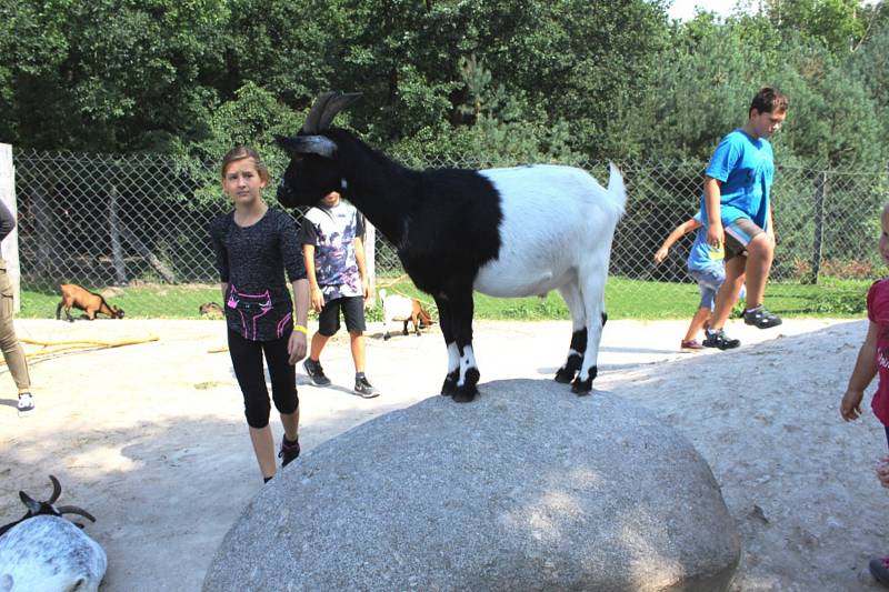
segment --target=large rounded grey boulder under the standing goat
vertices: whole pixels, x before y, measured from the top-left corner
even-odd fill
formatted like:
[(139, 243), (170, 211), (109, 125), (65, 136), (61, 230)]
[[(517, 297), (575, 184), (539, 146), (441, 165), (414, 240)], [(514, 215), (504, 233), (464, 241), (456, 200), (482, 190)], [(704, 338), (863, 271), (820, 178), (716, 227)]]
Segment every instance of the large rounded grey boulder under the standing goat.
[(207, 591), (726, 590), (710, 468), (610, 393), (550, 381), (433, 397), (307, 453), (222, 541)]

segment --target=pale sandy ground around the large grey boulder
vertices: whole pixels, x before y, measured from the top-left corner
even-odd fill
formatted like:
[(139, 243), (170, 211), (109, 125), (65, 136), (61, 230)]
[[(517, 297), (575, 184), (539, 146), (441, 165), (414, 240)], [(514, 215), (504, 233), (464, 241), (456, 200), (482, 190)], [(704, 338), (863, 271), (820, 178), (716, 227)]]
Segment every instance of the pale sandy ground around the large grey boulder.
[[(19, 490), (43, 499), (52, 473), (61, 503), (98, 518), (87, 530), (108, 552), (103, 591), (199, 590), (262, 486), (228, 354), (208, 353), (223, 345), (222, 322), (17, 323), (36, 340), (160, 340), (33, 363), (29, 418), (17, 415), (11, 378), (0, 379), (0, 523), (21, 515)], [(735, 589), (876, 589), (867, 561), (889, 553), (889, 493), (873, 475), (886, 438), (869, 412), (855, 424), (838, 413), (866, 323), (790, 320), (759, 331), (736, 321), (730, 333), (743, 347), (700, 353), (677, 350), (685, 327), (610, 321), (596, 389), (650, 409), (708, 460), (742, 538)], [(342, 340), (322, 358), (333, 388), (307, 384), (299, 369), (303, 451), (437, 392), (440, 335), (383, 341), (380, 331), (371, 323), (368, 342), (378, 399), (351, 394)], [(549, 379), (569, 334), (567, 321), (478, 322), (482, 395), (488, 380)], [(280, 438), (277, 419), (272, 427)]]

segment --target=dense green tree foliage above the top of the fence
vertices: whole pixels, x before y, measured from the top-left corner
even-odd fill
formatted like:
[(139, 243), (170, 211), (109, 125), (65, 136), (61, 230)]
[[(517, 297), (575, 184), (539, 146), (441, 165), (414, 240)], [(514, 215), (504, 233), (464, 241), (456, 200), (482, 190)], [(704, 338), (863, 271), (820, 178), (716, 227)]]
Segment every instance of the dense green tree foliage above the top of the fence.
[(700, 161), (775, 84), (791, 98), (779, 161), (885, 167), (885, 0), (769, 0), (687, 23), (666, 7), (0, 0), (0, 139), (196, 159), (246, 142), (277, 171), (271, 136), (340, 89), (364, 98), (338, 124), (406, 162)]

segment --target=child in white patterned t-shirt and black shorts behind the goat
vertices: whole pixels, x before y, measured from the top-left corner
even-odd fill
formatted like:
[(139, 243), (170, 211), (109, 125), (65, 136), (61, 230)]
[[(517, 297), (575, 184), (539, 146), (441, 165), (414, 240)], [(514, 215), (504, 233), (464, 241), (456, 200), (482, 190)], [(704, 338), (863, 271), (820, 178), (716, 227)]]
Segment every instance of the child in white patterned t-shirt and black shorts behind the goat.
[(363, 217), (336, 191), (324, 195), (302, 220), (299, 240), (311, 304), (319, 312), (318, 332), (312, 335), (309, 357), (302, 365), (314, 384), (330, 384), (321, 368), (321, 350), (339, 330), (342, 310), (354, 361), (354, 392), (372, 399), (380, 392), (364, 375), (364, 301), (370, 288), (361, 242), (363, 233)]

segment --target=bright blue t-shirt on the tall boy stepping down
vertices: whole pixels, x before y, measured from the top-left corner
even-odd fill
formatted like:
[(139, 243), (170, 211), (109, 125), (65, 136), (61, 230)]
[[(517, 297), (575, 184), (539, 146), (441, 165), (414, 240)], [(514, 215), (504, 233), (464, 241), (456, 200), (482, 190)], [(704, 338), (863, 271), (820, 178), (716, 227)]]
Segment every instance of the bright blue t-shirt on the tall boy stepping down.
[[(775, 178), (775, 155), (768, 140), (753, 140), (742, 129), (732, 131), (719, 142), (705, 172), (722, 181), (723, 225), (738, 218), (749, 218), (762, 230), (768, 230), (769, 192)], [(707, 211), (703, 195), (701, 211)], [(706, 227), (706, 215), (702, 221)]]

